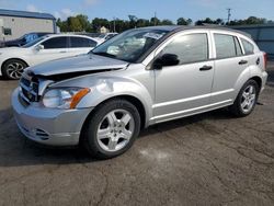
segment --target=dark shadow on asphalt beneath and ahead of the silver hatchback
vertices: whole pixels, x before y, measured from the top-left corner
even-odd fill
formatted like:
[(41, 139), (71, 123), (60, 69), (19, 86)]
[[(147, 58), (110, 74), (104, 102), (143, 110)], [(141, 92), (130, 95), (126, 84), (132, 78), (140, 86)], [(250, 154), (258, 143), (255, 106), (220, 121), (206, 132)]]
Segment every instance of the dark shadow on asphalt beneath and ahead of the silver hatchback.
[[(196, 124), (203, 119), (231, 118), (227, 110), (171, 121), (151, 126), (140, 133), (139, 140), (165, 133), (179, 127)], [(12, 116), (12, 110), (0, 111), (0, 167), (20, 167), (35, 164), (70, 164), (96, 161), (91, 159), (80, 147), (48, 147), (26, 139), (19, 130)], [(135, 146), (134, 146), (135, 147)]]

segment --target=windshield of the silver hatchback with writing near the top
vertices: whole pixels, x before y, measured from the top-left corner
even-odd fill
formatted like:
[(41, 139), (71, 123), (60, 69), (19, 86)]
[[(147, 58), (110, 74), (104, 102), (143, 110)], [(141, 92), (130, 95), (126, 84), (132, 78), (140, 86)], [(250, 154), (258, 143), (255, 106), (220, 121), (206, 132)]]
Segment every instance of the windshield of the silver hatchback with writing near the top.
[(136, 62), (142, 54), (167, 33), (168, 31), (156, 28), (130, 30), (99, 45), (91, 53)]

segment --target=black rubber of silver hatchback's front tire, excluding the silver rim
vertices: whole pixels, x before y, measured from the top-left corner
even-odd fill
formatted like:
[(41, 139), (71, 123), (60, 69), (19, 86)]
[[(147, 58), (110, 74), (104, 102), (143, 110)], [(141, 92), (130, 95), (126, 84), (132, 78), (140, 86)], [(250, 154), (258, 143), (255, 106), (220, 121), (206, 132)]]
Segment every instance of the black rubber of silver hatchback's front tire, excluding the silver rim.
[[(115, 151), (115, 152), (110, 152), (105, 151), (102, 149), (98, 142), (96, 139), (96, 130), (98, 126), (101, 123), (102, 118), (110, 113), (111, 111), (114, 110), (125, 110), (130, 113), (135, 121), (135, 128), (134, 128), (134, 134), (129, 140), (129, 142), (121, 150)], [(104, 103), (101, 105), (94, 113), (92, 113), (87, 121), (85, 128), (83, 128), (83, 138), (85, 139), (84, 141), (84, 147), (88, 150), (88, 152), (93, 156), (94, 158), (98, 159), (110, 159), (114, 158), (116, 156), (119, 156), (127, 151), (134, 144), (135, 139), (139, 135), (140, 130), (140, 116), (137, 111), (137, 108), (129, 103), (128, 101), (125, 100), (112, 100), (110, 102)]]

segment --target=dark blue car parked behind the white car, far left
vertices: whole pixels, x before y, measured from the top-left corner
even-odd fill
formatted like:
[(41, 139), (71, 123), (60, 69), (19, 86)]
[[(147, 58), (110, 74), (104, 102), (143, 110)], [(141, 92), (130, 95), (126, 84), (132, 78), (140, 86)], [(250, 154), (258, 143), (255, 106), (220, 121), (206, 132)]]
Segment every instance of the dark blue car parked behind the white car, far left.
[(4, 47), (24, 46), (25, 44), (27, 44), (27, 43), (30, 43), (30, 42), (32, 42), (32, 41), (41, 37), (41, 36), (45, 36), (47, 34), (50, 34), (50, 33), (46, 33), (46, 32), (28, 33), (28, 34), (25, 34), (25, 35), (21, 36), (20, 38), (4, 42), (3, 46)]

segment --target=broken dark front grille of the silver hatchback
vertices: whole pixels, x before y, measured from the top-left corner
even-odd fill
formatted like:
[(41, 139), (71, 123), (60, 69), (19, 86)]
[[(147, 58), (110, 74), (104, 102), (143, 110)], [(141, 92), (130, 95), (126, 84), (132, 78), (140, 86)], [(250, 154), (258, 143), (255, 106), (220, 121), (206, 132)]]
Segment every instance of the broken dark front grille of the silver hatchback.
[(38, 81), (31, 77), (22, 77), (20, 80), (21, 98), (26, 102), (37, 102), (38, 101)]

